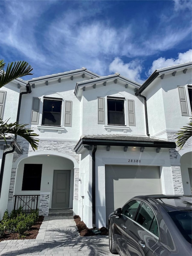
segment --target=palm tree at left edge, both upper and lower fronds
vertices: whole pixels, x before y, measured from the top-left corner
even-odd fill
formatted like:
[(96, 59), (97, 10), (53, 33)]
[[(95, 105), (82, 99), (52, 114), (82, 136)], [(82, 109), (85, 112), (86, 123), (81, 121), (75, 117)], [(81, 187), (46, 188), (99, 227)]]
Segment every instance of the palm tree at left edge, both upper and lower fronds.
[[(25, 61), (9, 63), (6, 71), (4, 71), (4, 67), (4, 60), (0, 60), (0, 88), (18, 77), (32, 75), (30, 72), (33, 70), (33, 68)], [(3, 138), (6, 142), (7, 134), (14, 134), (16, 136), (19, 135), (30, 143), (34, 151), (38, 148), (39, 140), (35, 139), (34, 137), (39, 135), (32, 133), (33, 130), (26, 128), (27, 124), (19, 125), (17, 122), (7, 122), (8, 120), (4, 122), (2, 119), (0, 119), (0, 139)]]

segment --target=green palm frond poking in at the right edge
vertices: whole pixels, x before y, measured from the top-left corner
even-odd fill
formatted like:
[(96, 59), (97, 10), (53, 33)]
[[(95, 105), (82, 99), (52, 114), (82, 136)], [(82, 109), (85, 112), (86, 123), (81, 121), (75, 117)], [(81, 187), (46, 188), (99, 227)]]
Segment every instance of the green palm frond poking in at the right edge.
[(186, 141), (192, 136), (192, 122), (189, 122), (187, 124), (187, 126), (184, 126), (181, 129), (182, 129), (182, 131), (179, 131), (177, 133), (177, 135), (179, 135), (179, 136), (176, 137), (177, 146), (180, 147), (180, 149), (182, 149), (182, 147), (184, 146)]

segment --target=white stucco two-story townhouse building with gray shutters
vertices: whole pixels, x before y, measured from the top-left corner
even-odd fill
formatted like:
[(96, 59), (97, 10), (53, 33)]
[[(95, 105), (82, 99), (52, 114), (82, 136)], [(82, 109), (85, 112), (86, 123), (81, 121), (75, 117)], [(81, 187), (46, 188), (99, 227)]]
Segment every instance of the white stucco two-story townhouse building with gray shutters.
[(81, 68), (1, 88), (3, 120), (29, 124), (40, 142), (34, 152), (19, 137), (0, 141), (0, 218), (30, 201), (100, 228), (135, 195), (191, 194), (191, 140), (175, 143), (192, 117), (191, 69), (162, 68), (141, 85)]

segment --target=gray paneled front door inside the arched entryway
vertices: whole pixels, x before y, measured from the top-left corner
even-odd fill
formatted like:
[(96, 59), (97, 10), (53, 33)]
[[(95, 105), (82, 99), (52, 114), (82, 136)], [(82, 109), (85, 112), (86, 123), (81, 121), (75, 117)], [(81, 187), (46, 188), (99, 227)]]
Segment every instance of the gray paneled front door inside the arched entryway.
[(54, 170), (52, 208), (69, 207), (70, 170)]

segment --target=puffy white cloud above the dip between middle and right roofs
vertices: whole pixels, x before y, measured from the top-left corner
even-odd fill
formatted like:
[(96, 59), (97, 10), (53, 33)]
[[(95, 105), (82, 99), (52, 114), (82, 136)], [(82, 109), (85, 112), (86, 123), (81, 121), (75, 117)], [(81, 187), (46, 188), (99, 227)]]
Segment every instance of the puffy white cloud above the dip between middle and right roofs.
[(121, 59), (116, 57), (113, 62), (109, 65), (110, 72), (119, 72), (122, 76), (129, 78), (130, 80), (136, 81), (138, 83), (143, 83), (140, 74), (142, 71), (142, 66), (137, 60), (133, 60), (129, 63), (124, 63)]

